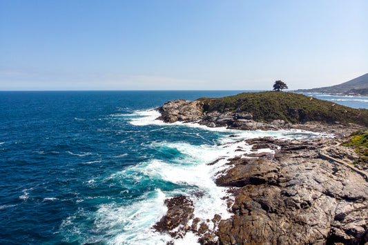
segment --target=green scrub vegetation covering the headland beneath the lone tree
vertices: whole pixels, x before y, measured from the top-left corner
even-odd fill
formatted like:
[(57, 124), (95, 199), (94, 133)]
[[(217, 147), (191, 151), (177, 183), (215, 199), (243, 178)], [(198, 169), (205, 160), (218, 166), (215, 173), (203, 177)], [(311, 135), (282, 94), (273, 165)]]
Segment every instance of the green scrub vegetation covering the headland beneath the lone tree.
[(293, 92), (244, 92), (222, 98), (200, 98), (203, 112), (246, 112), (253, 120), (284, 120), (293, 124), (320, 121), (327, 124), (368, 126), (368, 110), (354, 109)]

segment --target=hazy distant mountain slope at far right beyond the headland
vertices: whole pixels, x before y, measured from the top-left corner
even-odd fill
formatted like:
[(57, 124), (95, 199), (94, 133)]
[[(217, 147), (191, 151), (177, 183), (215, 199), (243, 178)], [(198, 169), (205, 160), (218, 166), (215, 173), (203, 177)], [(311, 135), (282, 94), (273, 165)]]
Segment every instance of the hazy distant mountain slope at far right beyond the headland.
[(323, 88), (300, 89), (296, 92), (320, 92), (324, 94), (368, 95), (368, 73), (343, 84)]

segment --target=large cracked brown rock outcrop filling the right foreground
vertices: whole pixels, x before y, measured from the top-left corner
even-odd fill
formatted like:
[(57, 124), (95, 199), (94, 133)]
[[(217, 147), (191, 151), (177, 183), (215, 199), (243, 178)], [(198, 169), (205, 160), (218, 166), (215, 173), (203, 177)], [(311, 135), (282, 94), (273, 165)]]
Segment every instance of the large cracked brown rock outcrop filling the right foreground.
[[(345, 166), (320, 159), (316, 149), (334, 140), (278, 141), (275, 159), (247, 162), (217, 178), (237, 186), (220, 244), (364, 244), (368, 242), (368, 184)], [(308, 146), (308, 147), (305, 147)], [(283, 150), (286, 148), (287, 150)], [(304, 157), (307, 153), (309, 157)]]

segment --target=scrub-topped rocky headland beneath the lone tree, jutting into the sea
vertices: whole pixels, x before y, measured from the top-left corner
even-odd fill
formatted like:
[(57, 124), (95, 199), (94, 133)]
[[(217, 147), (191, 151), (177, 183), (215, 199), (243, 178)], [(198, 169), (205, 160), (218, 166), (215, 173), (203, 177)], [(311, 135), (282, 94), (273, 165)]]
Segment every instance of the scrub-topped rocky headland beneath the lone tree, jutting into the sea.
[[(161, 119), (240, 130), (302, 129), (341, 135), (347, 126), (368, 127), (368, 110), (292, 92), (246, 92), (195, 101), (176, 99), (158, 108)], [(357, 127), (355, 125), (359, 125)]]

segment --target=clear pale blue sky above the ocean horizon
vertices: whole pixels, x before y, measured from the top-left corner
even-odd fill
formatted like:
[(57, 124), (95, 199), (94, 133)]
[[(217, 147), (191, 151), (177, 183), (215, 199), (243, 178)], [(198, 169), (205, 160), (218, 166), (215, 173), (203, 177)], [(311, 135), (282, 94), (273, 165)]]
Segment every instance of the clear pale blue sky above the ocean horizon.
[(290, 89), (368, 72), (368, 1), (0, 0), (0, 90)]

